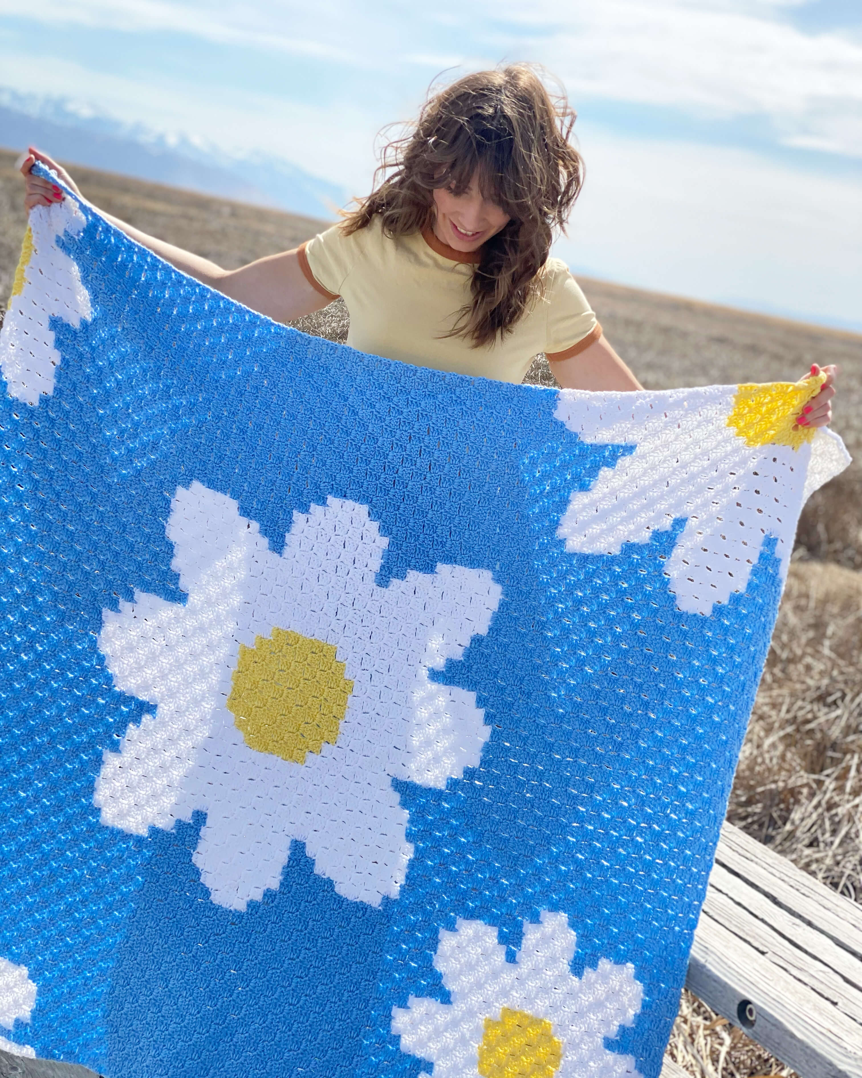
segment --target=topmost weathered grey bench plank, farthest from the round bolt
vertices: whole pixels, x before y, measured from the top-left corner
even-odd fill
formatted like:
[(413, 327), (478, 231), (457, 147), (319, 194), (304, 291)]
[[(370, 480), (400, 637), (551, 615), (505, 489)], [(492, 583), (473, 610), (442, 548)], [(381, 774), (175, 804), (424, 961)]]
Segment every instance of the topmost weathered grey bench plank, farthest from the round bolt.
[(787, 858), (731, 824), (721, 829), (715, 862), (862, 962), (862, 907), (836, 895)]

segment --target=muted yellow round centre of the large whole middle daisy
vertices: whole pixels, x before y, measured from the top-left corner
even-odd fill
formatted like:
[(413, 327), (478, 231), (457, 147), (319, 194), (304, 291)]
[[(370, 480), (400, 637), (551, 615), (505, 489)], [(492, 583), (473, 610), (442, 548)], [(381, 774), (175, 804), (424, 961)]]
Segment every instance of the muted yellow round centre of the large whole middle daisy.
[(249, 748), (305, 763), (338, 738), (353, 691), (344, 672), (333, 645), (274, 628), (239, 645), (227, 709)]

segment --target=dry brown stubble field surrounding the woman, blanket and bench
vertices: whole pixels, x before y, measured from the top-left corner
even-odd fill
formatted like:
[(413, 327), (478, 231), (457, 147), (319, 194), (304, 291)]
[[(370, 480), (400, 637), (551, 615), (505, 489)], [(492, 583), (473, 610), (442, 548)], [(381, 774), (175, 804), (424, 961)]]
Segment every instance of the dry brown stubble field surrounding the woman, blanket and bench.
[[(14, 154), (0, 151), (0, 296), (25, 218)], [(314, 235), (320, 222), (91, 169), (73, 170), (97, 206), (234, 267)], [(838, 363), (835, 429), (862, 459), (862, 336), (581, 279), (608, 338), (648, 388), (796, 378)], [(347, 335), (340, 302), (300, 328)], [(538, 357), (530, 381), (553, 384)], [(728, 818), (829, 886), (862, 901), (862, 466), (810, 500)], [(671, 1053), (695, 1078), (789, 1075), (687, 993)]]

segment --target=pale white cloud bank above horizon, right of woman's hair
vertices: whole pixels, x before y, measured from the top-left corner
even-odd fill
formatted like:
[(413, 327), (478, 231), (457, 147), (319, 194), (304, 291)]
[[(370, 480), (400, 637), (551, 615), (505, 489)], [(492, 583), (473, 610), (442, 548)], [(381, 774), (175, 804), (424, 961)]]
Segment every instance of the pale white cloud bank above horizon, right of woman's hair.
[(862, 184), (746, 150), (584, 125), (587, 180), (557, 253), (655, 291), (858, 319)]

